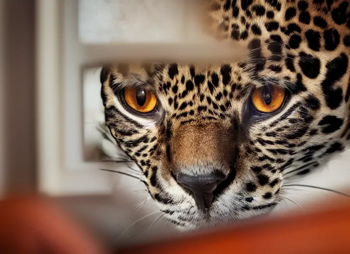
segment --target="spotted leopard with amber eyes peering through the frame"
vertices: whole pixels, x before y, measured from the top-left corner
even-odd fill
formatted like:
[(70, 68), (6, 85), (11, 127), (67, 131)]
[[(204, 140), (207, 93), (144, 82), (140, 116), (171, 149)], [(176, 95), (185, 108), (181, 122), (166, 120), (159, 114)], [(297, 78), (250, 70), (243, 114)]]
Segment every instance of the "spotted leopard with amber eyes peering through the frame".
[(205, 27), (242, 58), (100, 71), (105, 125), (180, 231), (269, 214), (286, 173), (318, 169), (350, 140), (349, 0), (203, 4)]

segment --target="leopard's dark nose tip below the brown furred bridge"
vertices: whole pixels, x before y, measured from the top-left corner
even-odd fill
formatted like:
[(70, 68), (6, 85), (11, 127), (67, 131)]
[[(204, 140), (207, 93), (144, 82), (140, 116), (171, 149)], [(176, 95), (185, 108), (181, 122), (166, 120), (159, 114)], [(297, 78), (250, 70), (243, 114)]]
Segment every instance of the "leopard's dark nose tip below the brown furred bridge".
[(189, 176), (182, 173), (177, 174), (176, 181), (183, 187), (192, 191), (193, 198), (199, 208), (209, 208), (217, 186), (225, 180), (225, 176), (220, 173), (208, 175)]

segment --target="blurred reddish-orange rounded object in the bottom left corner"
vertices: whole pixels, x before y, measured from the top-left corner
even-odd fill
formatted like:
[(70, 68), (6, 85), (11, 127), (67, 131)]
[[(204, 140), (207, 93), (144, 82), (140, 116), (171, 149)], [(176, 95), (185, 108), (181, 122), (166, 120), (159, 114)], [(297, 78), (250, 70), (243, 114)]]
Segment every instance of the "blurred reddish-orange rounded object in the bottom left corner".
[(39, 197), (0, 201), (0, 253), (105, 254), (86, 230)]

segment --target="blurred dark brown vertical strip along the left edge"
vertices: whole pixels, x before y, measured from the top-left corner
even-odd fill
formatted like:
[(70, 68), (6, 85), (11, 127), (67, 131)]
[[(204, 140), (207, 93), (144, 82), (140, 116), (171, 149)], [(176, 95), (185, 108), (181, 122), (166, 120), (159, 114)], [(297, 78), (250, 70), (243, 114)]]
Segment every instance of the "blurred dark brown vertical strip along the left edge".
[(0, 17), (1, 195), (36, 186), (35, 0), (1, 1)]

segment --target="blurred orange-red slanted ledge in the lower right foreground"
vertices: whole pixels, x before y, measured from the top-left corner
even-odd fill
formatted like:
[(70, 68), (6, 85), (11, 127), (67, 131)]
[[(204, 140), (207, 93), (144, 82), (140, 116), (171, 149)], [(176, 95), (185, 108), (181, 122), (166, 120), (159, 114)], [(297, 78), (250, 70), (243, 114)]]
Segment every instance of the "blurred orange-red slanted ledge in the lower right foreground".
[[(347, 203), (347, 204), (346, 204)], [(350, 202), (272, 221), (118, 250), (118, 254), (350, 253)]]

